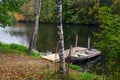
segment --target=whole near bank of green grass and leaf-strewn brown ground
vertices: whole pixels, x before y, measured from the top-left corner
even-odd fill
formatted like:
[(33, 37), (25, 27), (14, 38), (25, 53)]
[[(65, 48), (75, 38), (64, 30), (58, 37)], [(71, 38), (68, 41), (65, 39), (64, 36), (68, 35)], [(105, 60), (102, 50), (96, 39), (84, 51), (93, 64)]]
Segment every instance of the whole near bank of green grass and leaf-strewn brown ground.
[(0, 43), (0, 80), (105, 80), (93, 73), (80, 73), (80, 67), (71, 64), (69, 73), (61, 75), (53, 62), (40, 59), (34, 51), (28, 57), (26, 52), (25, 46)]

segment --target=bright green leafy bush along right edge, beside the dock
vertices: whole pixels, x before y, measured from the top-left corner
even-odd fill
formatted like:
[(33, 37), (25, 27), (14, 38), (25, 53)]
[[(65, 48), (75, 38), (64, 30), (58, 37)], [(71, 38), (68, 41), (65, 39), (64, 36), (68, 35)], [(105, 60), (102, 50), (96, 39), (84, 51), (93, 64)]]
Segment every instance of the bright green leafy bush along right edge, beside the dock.
[(105, 69), (102, 67), (100, 70), (107, 71), (108, 75), (112, 75), (113, 80), (120, 79), (120, 16), (112, 14), (112, 10), (107, 7), (99, 9), (100, 31), (95, 35), (95, 45), (103, 53)]

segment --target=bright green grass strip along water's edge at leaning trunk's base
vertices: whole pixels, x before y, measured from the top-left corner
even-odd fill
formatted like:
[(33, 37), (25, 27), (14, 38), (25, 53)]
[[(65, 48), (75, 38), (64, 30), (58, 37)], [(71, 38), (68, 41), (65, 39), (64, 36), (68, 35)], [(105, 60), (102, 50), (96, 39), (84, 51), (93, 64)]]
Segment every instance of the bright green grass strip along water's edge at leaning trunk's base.
[[(9, 53), (17, 53), (17, 54), (27, 54), (27, 47), (18, 44), (5, 44), (0, 42), (0, 52), (9, 54)], [(40, 59), (41, 56), (39, 53), (34, 50), (31, 52), (31, 58)]]

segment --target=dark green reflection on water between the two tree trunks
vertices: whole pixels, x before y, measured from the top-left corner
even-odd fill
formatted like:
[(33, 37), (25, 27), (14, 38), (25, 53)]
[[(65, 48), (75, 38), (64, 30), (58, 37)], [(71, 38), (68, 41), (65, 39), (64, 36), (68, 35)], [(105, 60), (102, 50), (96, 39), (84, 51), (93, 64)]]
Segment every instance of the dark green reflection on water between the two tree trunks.
[(56, 47), (57, 32), (55, 24), (41, 24), (38, 31), (37, 48), (39, 51), (52, 51)]

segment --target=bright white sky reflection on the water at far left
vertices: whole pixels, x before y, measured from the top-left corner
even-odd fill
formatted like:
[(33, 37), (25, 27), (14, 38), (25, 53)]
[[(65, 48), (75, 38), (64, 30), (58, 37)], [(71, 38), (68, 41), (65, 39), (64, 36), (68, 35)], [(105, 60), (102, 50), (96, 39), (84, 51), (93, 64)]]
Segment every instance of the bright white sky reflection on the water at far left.
[[(16, 30), (15, 30), (16, 29)], [(28, 46), (27, 37), (24, 32), (18, 31), (16, 27), (0, 27), (0, 41), (4, 43), (16, 43)]]

